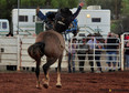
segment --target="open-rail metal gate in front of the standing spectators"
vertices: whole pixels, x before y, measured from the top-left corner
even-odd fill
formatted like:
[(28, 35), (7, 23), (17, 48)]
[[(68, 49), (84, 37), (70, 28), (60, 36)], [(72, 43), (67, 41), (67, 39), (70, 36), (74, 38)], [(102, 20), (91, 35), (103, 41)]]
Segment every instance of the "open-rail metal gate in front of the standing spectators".
[[(78, 40), (75, 43), (78, 46), (76, 49), (72, 49), (73, 43), (72, 43), (72, 40), (71, 40), (71, 50), (75, 50), (76, 51), (76, 53), (75, 53), (76, 58), (75, 58), (74, 61), (75, 61), (75, 68), (76, 68), (77, 71), (79, 70), (79, 68), (84, 68), (85, 71), (89, 71), (90, 68), (94, 68), (95, 70), (97, 70), (98, 69), (98, 66), (96, 65), (97, 62), (100, 62), (103, 71), (107, 71), (108, 68), (109, 68), (107, 65), (107, 62), (109, 61), (108, 58), (110, 56), (109, 54), (107, 54), (107, 52), (111, 52), (111, 51), (116, 52), (116, 54), (111, 54), (111, 56), (116, 58), (116, 60), (111, 59), (109, 62), (112, 63), (115, 61), (117, 70), (121, 68), (121, 62), (120, 62), (121, 61), (121, 55), (120, 55), (121, 46), (119, 44), (120, 43), (120, 39), (119, 38), (110, 38), (110, 39), (118, 40), (118, 43), (105, 43), (105, 42), (88, 43), (88, 41), (85, 43), (85, 45), (93, 45), (94, 49), (90, 49), (90, 48), (89, 49), (80, 49), (79, 45), (82, 45), (83, 43), (79, 42), (79, 41), (82, 41), (83, 39), (92, 40), (92, 37), (78, 38)], [(106, 38), (104, 39), (101, 37), (94, 37), (94, 41), (96, 41), (96, 40), (100, 41), (101, 39), (106, 40)], [(96, 49), (97, 44), (101, 45), (103, 48), (101, 49)], [(117, 49), (107, 49), (106, 48), (107, 45), (111, 45), (111, 46), (117, 45), (118, 48)], [(78, 50), (82, 50), (82, 51), (86, 51), (87, 50), (88, 52), (86, 54), (78, 54), (77, 53)], [(92, 53), (89, 53), (90, 51), (92, 51)], [(96, 54), (96, 51), (99, 51), (100, 54)], [(79, 56), (84, 56), (85, 60), (79, 60), (78, 59)], [(92, 56), (92, 59), (89, 59), (90, 56)], [(100, 60), (97, 60), (96, 56), (99, 56)], [(79, 62), (82, 62), (82, 61), (84, 61), (84, 65), (83, 66), (79, 65)], [(93, 62), (93, 65), (89, 65), (90, 62)], [(115, 66), (111, 65), (110, 68), (115, 68)]]

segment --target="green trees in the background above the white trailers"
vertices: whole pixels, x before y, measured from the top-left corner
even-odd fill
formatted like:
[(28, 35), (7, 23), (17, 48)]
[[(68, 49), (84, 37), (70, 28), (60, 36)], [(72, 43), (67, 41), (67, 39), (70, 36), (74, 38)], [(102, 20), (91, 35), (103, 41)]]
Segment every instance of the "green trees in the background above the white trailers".
[[(76, 8), (79, 1), (87, 6), (101, 6), (103, 9), (111, 10), (111, 18), (118, 20), (129, 17), (129, 0), (19, 0), (20, 8)], [(18, 8), (18, 0), (0, 0), (0, 19), (9, 19), (11, 21), (12, 9)], [(125, 22), (125, 21), (122, 21)], [(127, 22), (126, 22), (127, 23)], [(123, 27), (126, 23), (122, 23)], [(117, 24), (117, 23), (116, 23)], [(129, 23), (127, 23), (129, 24)], [(129, 28), (126, 25), (126, 28)]]

